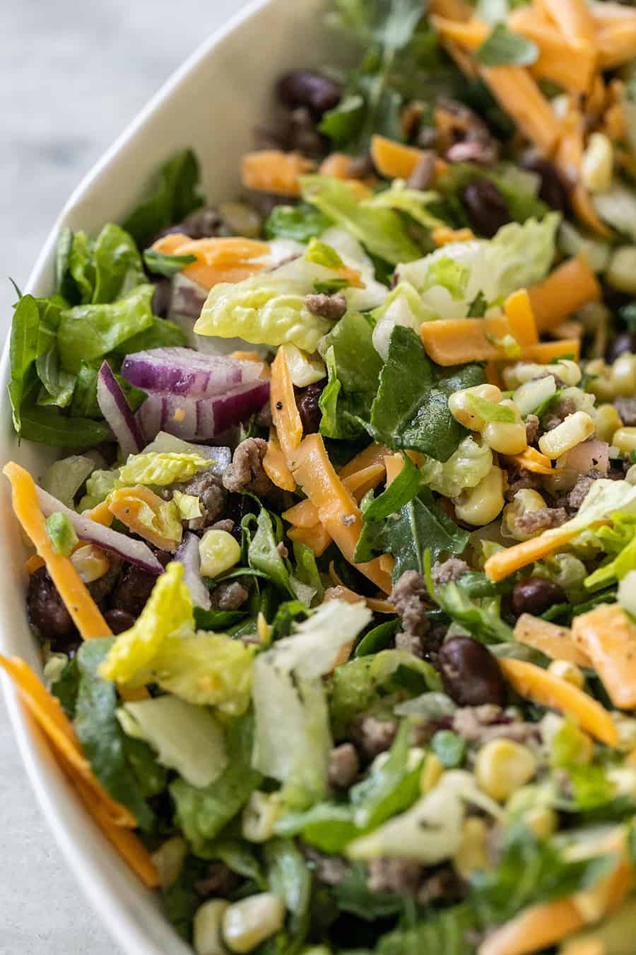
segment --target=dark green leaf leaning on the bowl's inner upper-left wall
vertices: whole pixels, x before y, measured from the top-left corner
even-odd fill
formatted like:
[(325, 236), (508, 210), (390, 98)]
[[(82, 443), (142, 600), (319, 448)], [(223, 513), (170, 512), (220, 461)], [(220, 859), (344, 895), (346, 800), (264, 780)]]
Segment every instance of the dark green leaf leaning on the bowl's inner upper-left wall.
[(155, 233), (181, 222), (202, 205), (198, 184), (198, 160), (192, 149), (180, 150), (161, 166), (150, 196), (123, 223), (136, 244), (143, 247)]

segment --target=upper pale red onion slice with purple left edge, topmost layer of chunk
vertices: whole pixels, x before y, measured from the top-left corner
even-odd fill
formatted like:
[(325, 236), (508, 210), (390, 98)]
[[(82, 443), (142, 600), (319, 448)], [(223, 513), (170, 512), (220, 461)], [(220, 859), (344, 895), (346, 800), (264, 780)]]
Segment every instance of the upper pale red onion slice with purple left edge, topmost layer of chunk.
[(202, 398), (254, 381), (261, 369), (259, 362), (239, 361), (193, 349), (165, 348), (127, 355), (121, 373), (126, 381), (144, 391)]

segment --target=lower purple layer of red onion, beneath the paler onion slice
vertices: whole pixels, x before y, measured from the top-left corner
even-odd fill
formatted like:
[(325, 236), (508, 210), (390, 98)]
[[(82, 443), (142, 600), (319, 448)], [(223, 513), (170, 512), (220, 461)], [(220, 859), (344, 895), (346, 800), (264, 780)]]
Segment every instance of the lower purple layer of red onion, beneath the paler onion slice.
[(159, 431), (185, 441), (205, 441), (259, 411), (269, 393), (270, 383), (266, 378), (256, 378), (225, 394), (206, 398), (149, 392), (137, 412), (137, 420), (149, 441)]

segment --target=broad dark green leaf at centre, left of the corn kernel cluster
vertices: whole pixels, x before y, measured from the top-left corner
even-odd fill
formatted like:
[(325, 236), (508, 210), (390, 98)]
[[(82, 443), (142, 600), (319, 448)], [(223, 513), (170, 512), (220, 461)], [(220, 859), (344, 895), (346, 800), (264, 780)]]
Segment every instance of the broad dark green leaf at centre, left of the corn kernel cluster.
[(484, 381), (481, 365), (433, 364), (412, 329), (397, 326), (380, 374), (371, 425), (391, 448), (410, 448), (447, 461), (468, 434), (448, 410), (448, 398)]

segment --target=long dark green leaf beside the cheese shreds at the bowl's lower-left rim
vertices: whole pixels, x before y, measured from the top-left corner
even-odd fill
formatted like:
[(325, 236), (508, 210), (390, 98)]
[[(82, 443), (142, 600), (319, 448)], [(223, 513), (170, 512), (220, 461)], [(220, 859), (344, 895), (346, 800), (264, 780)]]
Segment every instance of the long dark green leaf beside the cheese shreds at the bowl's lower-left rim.
[(113, 637), (87, 640), (77, 651), (79, 689), (73, 723), (92, 772), (113, 799), (127, 806), (138, 825), (148, 831), (154, 825), (154, 814), (126, 760), (124, 733), (115, 715), (117, 691), (97, 672), (113, 642)]

